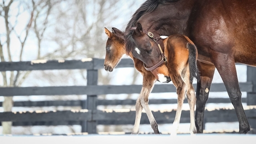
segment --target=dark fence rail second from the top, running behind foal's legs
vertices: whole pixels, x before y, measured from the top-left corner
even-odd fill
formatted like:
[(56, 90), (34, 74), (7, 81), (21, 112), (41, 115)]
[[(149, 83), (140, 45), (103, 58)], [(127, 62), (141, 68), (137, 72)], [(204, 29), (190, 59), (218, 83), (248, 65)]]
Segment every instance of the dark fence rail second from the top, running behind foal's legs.
[[(241, 91), (252, 92), (252, 83), (239, 83)], [(197, 85), (193, 85), (197, 88)], [(138, 94), (142, 85), (87, 85), (87, 86), (46, 86), (46, 87), (0, 87), (0, 96), (40, 95), (105, 95)], [(213, 83), (211, 92), (226, 91), (223, 83)], [(152, 93), (176, 92), (174, 85), (155, 85)]]

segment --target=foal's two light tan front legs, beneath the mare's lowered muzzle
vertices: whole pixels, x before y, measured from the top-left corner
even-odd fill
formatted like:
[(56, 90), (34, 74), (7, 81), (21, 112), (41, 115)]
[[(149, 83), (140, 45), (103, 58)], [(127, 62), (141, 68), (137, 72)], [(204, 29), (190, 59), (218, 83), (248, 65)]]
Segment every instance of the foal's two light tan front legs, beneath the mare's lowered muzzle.
[(149, 108), (149, 94), (155, 85), (155, 81), (156, 81), (155, 76), (151, 72), (143, 75), (142, 89), (140, 91), (139, 97), (135, 105), (136, 118), (135, 118), (132, 134), (139, 133), (139, 124), (140, 124), (141, 112), (143, 108), (149, 118), (149, 123), (151, 125), (151, 128), (154, 130), (154, 133), (159, 134), (158, 125)]

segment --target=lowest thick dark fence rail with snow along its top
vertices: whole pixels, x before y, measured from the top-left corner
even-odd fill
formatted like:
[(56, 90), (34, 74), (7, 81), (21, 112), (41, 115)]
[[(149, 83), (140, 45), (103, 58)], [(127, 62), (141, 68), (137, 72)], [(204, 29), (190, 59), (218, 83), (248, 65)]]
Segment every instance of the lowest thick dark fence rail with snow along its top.
[[(172, 123), (175, 118), (176, 111), (154, 111), (157, 123)], [(181, 123), (190, 123), (190, 112), (182, 111)], [(256, 109), (245, 110), (249, 117), (256, 117)], [(142, 114), (141, 123), (149, 124), (148, 117)], [(131, 118), (132, 117), (132, 118)], [(135, 111), (123, 110), (116, 111), (100, 111), (100, 110), (69, 110), (69, 111), (34, 111), (34, 112), (0, 112), (0, 121), (12, 122), (52, 122), (52, 121), (100, 121), (98, 124), (134, 124)], [(205, 120), (208, 123), (218, 122), (237, 122), (234, 109), (216, 109), (206, 110)], [(58, 124), (59, 125), (59, 124)]]

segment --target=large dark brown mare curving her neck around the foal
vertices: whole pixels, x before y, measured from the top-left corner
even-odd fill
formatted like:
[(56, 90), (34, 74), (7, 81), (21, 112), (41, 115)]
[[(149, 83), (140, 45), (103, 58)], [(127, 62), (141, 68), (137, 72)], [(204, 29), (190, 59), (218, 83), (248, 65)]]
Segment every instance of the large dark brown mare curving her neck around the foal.
[[(133, 14), (125, 30), (127, 53), (152, 48), (161, 60), (157, 44), (146, 35), (135, 36), (137, 23), (155, 37), (182, 34), (197, 46), (197, 67), (200, 80), (197, 82), (196, 127), (203, 133), (205, 104), (215, 68), (218, 70), (229, 94), (239, 122), (239, 133), (250, 130), (242, 102), (235, 63), (256, 66), (256, 0), (147, 0)], [(139, 42), (139, 39), (143, 41)], [(160, 45), (163, 47), (162, 40)], [(147, 65), (152, 66), (152, 65)]]

